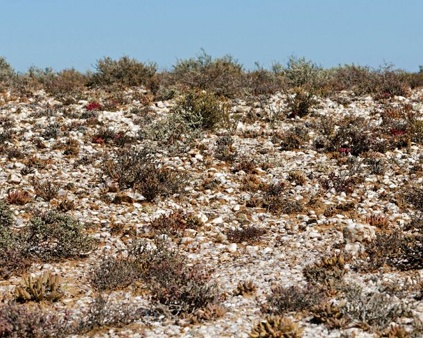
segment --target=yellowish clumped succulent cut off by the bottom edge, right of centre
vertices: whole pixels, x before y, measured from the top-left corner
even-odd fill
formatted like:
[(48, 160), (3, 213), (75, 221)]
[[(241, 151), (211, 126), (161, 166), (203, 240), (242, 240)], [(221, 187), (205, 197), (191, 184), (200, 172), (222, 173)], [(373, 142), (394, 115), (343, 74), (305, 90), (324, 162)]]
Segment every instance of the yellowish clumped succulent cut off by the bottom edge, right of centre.
[(304, 328), (300, 328), (298, 324), (291, 321), (291, 319), (280, 316), (270, 316), (266, 318), (266, 321), (257, 323), (254, 328), (252, 328), (249, 336), (250, 338), (299, 338), (303, 330)]

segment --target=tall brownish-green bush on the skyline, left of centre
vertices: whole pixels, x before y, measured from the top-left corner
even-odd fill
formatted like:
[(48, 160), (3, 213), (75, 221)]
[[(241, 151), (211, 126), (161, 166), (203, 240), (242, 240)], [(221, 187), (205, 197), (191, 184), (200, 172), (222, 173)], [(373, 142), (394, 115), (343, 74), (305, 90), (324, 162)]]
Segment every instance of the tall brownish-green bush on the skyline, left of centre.
[(123, 86), (148, 86), (156, 72), (155, 64), (144, 64), (128, 56), (119, 60), (104, 57), (96, 63), (91, 82), (96, 85), (121, 84)]

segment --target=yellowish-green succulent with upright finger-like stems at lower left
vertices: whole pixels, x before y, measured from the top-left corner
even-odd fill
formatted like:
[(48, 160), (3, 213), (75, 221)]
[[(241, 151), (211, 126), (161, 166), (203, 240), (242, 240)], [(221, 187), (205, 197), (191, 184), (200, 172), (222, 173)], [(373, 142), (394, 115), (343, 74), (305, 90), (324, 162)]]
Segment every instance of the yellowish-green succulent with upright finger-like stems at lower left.
[(44, 272), (42, 276), (23, 278), (23, 285), (15, 288), (15, 299), (17, 301), (58, 301), (63, 293), (60, 290), (60, 278), (50, 272)]

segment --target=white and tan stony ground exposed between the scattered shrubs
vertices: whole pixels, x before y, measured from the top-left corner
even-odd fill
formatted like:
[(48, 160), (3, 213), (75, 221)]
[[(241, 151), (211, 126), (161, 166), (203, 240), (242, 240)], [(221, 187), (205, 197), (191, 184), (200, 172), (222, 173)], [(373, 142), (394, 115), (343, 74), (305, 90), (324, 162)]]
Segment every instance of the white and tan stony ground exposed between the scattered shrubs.
[[(140, 93), (138, 96), (143, 95), (142, 91)], [(126, 96), (132, 94), (128, 91)], [(10, 205), (17, 228), (25, 226), (35, 208), (55, 209), (67, 199), (74, 202), (74, 208), (66, 212), (89, 224), (87, 231), (100, 240), (98, 248), (87, 258), (31, 266), (33, 275), (49, 270), (62, 278), (64, 298), (53, 305), (43, 303), (42, 306), (87, 311), (95, 294), (87, 283), (90, 269), (101, 258), (125, 256), (128, 246), (137, 238), (153, 241), (156, 235), (186, 255), (190, 263), (200, 263), (210, 269), (212, 280), (226, 295), (223, 305), (227, 312), (221, 318), (198, 324), (180, 323), (179, 319), (164, 316), (146, 317), (122, 328), (100, 328), (90, 333), (95, 337), (248, 337), (252, 326), (266, 318), (261, 305), (266, 303), (273, 285), (304, 286), (307, 282), (303, 269), (307, 265), (343, 249), (357, 255), (363, 245), (361, 242), (372, 240), (374, 233), (379, 231), (377, 226), (369, 225), (371, 215), (385, 217), (390, 229), (405, 229), (406, 224), (421, 213), (412, 204), (400, 203), (397, 194), (407, 184), (422, 184), (422, 143), (411, 142), (404, 148), (378, 152), (377, 158), (383, 160), (386, 170), (377, 175), (372, 173), (364, 156), (355, 157), (348, 149), (318, 151), (313, 147), (313, 139), (318, 133), (316, 123), (321, 123), (322, 116), (338, 120), (348, 115), (363, 116), (377, 124), (381, 121), (383, 105), (410, 104), (418, 118), (422, 118), (423, 91), (413, 91), (408, 98), (390, 98), (385, 103), (345, 93), (342, 100), (321, 99), (311, 114), (303, 118), (278, 118), (277, 114), (284, 111), (282, 95), (273, 96), (266, 104), (236, 101), (232, 104), (232, 123), (214, 132), (203, 132), (186, 152), (174, 150), (169, 153), (157, 146), (157, 154), (164, 165), (187, 173), (189, 184), (183, 193), (159, 197), (153, 202), (146, 202), (132, 189), (116, 192), (114, 182), (105, 180), (101, 170), (103, 158), (119, 148), (114, 143), (96, 142), (93, 138), (99, 127), (137, 137), (148, 121), (153, 123), (169, 115), (174, 100), (146, 103), (134, 99), (110, 109), (113, 112), (104, 107), (90, 111), (87, 109), (89, 101), (103, 100), (98, 95), (87, 93), (87, 100), (66, 106), (42, 91), (25, 100), (6, 93), (0, 101), (2, 132), (13, 131), (13, 136), (4, 141), (3, 146), (23, 154), (1, 155), (0, 193), (3, 197), (12, 190), (24, 190), (32, 197), (24, 206)], [(146, 119), (146, 107), (150, 120)], [(304, 126), (309, 127), (309, 140), (296, 149), (281, 150), (280, 139), (286, 131)], [(58, 130), (49, 137), (49, 128), (54, 127)], [(233, 143), (227, 151), (233, 158), (221, 160), (216, 144), (225, 135), (232, 138)], [(69, 139), (76, 140), (74, 146), (78, 150), (64, 151)], [(144, 141), (138, 139), (131, 146), (139, 146)], [(23, 168), (28, 167), (31, 158), (40, 164), (27, 173)], [(239, 163), (251, 159), (254, 159), (254, 166), (248, 168), (250, 172), (245, 172)], [(298, 172), (300, 178), (290, 176), (291, 172)], [(354, 181), (351, 190), (336, 191), (331, 186), (322, 186), (322, 179), (331, 172), (361, 179)], [(33, 177), (58, 181), (61, 188), (57, 197), (50, 202), (37, 197)], [(302, 211), (272, 212), (261, 205), (248, 203), (259, 192), (260, 184), (278, 181), (284, 182), (290, 200), (304, 206)], [(112, 203), (116, 195), (121, 199)], [(344, 210), (328, 211), (331, 206), (339, 205), (345, 206)], [(204, 224), (196, 230), (187, 229), (179, 236), (152, 235), (149, 228), (152, 220), (179, 209), (198, 216)], [(113, 231), (116, 226), (121, 226), (119, 233)], [(255, 226), (266, 233), (256, 240), (230, 242), (228, 231), (241, 226)], [(399, 271), (384, 267), (375, 272), (357, 271), (352, 264), (345, 268), (345, 281), (356, 283), (363, 290), (379, 290), (381, 284), (395, 281), (404, 284), (407, 278), (413, 277), (415, 281), (423, 275), (421, 268)], [(234, 296), (232, 291), (240, 281), (253, 281), (257, 292), (251, 296)], [(11, 299), (19, 283), (21, 276), (1, 281), (3, 299)], [(109, 293), (114, 302), (150, 306), (148, 295), (132, 287)], [(422, 301), (413, 299), (413, 292), (404, 299), (410, 299), (409, 310), (415, 317), (423, 319)], [(287, 315), (304, 327), (302, 337), (377, 337), (372, 330), (359, 326), (329, 330), (323, 324), (311, 323), (309, 313)], [(411, 322), (406, 318), (397, 320), (408, 331), (413, 329)]]

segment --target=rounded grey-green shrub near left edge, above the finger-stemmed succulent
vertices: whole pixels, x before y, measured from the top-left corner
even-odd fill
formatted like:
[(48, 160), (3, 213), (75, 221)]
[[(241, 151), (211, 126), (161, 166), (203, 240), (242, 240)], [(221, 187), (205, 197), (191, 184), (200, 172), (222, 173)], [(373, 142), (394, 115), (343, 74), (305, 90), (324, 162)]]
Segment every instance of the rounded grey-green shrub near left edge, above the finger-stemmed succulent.
[(69, 215), (49, 211), (31, 218), (23, 230), (28, 253), (42, 260), (85, 256), (94, 249), (93, 238), (83, 233), (84, 226)]

